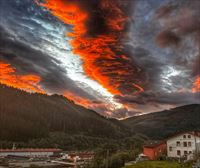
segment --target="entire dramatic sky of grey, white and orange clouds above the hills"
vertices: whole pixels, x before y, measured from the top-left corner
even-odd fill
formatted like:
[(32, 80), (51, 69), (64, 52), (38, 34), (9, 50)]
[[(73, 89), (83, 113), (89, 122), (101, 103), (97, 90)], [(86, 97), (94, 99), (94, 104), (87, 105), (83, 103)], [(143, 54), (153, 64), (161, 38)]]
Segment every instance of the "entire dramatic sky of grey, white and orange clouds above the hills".
[(1, 0), (0, 83), (124, 118), (200, 102), (199, 0)]

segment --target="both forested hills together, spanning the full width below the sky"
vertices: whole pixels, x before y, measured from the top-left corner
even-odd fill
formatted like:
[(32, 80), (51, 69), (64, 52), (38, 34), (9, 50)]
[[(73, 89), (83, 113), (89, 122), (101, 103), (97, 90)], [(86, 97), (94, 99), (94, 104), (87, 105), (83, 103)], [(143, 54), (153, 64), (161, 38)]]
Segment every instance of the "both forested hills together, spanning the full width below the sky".
[(93, 150), (114, 144), (141, 149), (148, 139), (200, 130), (200, 105), (109, 119), (60, 95), (27, 93), (0, 85), (0, 147), (58, 147)]

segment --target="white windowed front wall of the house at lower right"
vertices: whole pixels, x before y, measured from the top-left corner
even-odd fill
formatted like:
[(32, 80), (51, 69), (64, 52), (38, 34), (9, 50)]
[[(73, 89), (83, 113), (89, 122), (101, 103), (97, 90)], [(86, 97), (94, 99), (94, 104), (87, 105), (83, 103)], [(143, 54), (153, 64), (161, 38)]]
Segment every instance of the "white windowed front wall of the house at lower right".
[[(180, 145), (177, 145), (177, 142), (180, 142)], [(184, 142), (187, 144), (187, 147), (184, 146)], [(191, 146), (189, 146), (189, 143), (191, 143)], [(195, 136), (192, 134), (185, 133), (172, 137), (167, 140), (167, 156), (179, 158), (190, 155), (193, 157), (195, 148), (197, 147), (199, 150), (200, 137), (196, 137), (196, 144), (197, 145), (195, 145)], [(178, 155), (177, 151), (180, 151), (180, 155)]]

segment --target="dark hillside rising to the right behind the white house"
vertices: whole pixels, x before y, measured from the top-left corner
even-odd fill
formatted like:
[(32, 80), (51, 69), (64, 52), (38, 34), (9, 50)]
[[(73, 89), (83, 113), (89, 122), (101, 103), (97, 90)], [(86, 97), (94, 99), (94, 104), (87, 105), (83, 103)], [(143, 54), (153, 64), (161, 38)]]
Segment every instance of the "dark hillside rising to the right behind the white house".
[(177, 132), (200, 130), (200, 104), (131, 117), (122, 122), (151, 139), (163, 139)]

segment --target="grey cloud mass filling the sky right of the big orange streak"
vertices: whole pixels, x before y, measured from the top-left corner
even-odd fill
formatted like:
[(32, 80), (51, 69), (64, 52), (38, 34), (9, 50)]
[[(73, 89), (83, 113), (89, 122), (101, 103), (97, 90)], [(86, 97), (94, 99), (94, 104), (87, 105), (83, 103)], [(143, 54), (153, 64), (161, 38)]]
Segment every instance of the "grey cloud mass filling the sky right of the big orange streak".
[[(115, 96), (116, 100), (140, 112), (199, 103), (199, 93), (191, 93), (194, 76), (200, 72), (199, 43), (196, 39), (199, 2), (139, 0), (136, 4), (132, 16), (132, 38), (127, 46), (132, 49), (133, 59), (145, 72), (145, 91)], [(187, 13), (176, 15), (179, 11)], [(163, 19), (158, 19), (161, 17)], [(166, 48), (160, 47), (157, 40)]]

